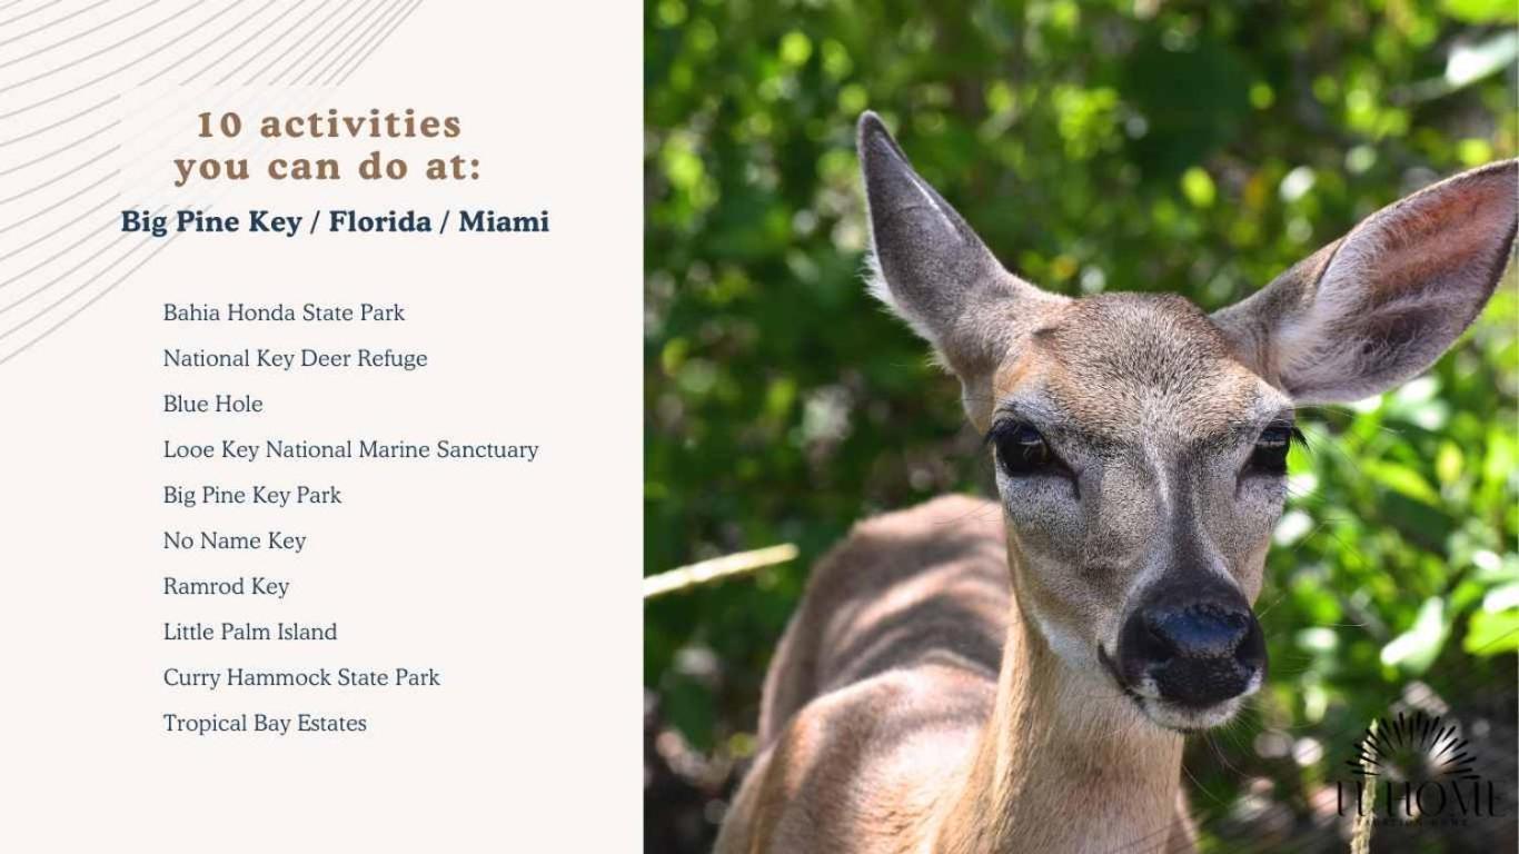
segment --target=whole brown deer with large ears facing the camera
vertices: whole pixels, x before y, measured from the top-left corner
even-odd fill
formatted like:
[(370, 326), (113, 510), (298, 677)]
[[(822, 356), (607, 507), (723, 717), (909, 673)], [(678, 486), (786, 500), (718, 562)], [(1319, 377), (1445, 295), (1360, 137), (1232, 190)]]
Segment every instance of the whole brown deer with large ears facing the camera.
[(995, 500), (857, 523), (766, 675), (718, 854), (1194, 851), (1188, 734), (1267, 672), (1296, 409), (1425, 369), (1496, 289), (1519, 161), (1364, 219), (1240, 302), (1009, 272), (883, 120), (857, 128), (869, 287), (960, 381)]

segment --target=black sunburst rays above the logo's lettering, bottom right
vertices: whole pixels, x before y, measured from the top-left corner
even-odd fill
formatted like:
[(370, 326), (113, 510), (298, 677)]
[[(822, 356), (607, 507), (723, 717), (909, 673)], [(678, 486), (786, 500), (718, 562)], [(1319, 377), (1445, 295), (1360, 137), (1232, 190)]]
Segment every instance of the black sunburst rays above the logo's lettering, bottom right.
[(1350, 773), (1390, 780), (1476, 780), (1472, 754), (1454, 723), (1423, 711), (1379, 717), (1356, 742), (1356, 754), (1346, 760)]

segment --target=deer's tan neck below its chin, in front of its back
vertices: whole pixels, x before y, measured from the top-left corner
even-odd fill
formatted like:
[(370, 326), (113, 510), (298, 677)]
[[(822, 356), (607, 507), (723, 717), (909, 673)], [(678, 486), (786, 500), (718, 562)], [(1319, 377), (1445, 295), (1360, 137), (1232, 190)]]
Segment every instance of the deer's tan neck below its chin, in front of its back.
[(1015, 597), (996, 705), (933, 851), (1162, 849), (1180, 767), (1182, 735), (1063, 664)]

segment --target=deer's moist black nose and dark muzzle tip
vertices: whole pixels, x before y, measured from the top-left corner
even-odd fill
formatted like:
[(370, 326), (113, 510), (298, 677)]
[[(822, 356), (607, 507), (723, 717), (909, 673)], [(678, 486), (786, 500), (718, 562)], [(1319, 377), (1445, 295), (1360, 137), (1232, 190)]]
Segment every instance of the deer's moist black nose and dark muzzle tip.
[(1236, 697), (1264, 676), (1265, 640), (1250, 606), (1223, 596), (1170, 596), (1136, 608), (1118, 638), (1130, 687), (1154, 681), (1161, 697), (1208, 708)]

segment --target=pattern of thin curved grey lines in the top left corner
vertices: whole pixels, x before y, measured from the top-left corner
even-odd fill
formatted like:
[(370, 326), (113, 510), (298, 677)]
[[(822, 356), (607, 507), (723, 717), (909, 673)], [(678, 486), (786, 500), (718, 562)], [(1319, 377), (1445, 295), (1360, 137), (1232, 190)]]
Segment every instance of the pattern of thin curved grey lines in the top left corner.
[[(11, 184), (0, 198), (0, 210), (17, 208), (14, 219), (0, 219), (0, 236), (6, 242), (0, 264), (21, 267), (0, 278), (0, 290), (8, 292), (0, 315), (14, 318), (0, 331), (0, 365), (12, 362), (97, 304), (179, 234), (137, 237), (117, 228), (120, 217), (111, 210), (135, 193), (112, 185), (132, 166), (122, 163), (123, 152), (159, 144), (153, 138), (138, 138), (141, 134), (135, 132), (129, 147), (122, 135), (126, 128), (123, 115), (106, 112), (88, 120), (122, 100), (123, 90), (135, 82), (126, 81), (128, 74), (138, 70), (143, 76), (135, 85), (163, 82), (170, 74), (184, 74), (178, 85), (202, 81), (226, 85), (246, 74), (249, 85), (286, 84), (286, 96), (275, 97), (278, 103), (298, 91), (295, 87), (346, 82), (422, 5), (422, 0), (219, 0), (213, 6), (190, 0), (135, 0), (122, 11), (128, 3), (112, 6), (108, 2), (77, 0), (77, 8), (71, 8), (73, 3), (46, 0), (26, 8), (18, 0), (0, 0), (0, 11), (11, 14), (0, 27), (26, 26), (24, 32), (14, 26), (5, 29), (0, 40), (0, 47), (20, 49), (5, 52), (0, 71), (24, 74), (0, 79), (0, 94), (11, 100), (0, 112), (0, 122), (12, 120), (9, 123), (15, 125), (15, 119), (33, 112), (39, 119), (38, 126), (18, 128), (14, 137), (0, 140), (0, 149), (26, 143), (26, 149), (17, 152), (20, 157), (0, 161), (0, 178)], [(52, 20), (39, 15), (53, 6), (59, 9)], [(88, 15), (91, 11), (93, 17)], [(41, 44), (43, 40), (47, 44)], [(74, 50), (87, 53), (65, 56)], [(47, 61), (56, 65), (38, 67)], [(187, 73), (191, 64), (194, 73)], [(64, 79), (68, 71), (73, 71), (73, 79)], [(61, 91), (49, 93), (46, 81), (62, 87)], [(27, 102), (15, 103), (14, 93), (29, 87), (36, 91), (29, 94)], [(94, 146), (103, 146), (103, 150), (88, 153)], [(79, 163), (67, 172), (52, 173), (59, 169), (58, 163), (67, 163), (59, 158), (70, 152)], [(99, 173), (90, 176), (90, 172)], [(132, 175), (131, 181), (141, 179), (137, 169)], [(71, 176), (79, 176), (85, 185), (67, 188), (64, 179)], [(20, 185), (23, 181), (26, 185)], [(58, 193), (62, 198), (47, 198)], [(205, 201), (213, 202), (216, 195)], [(152, 214), (167, 207), (169, 202)], [(197, 207), (210, 210), (213, 205)]]

